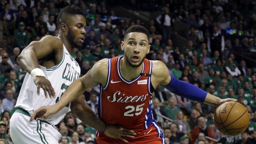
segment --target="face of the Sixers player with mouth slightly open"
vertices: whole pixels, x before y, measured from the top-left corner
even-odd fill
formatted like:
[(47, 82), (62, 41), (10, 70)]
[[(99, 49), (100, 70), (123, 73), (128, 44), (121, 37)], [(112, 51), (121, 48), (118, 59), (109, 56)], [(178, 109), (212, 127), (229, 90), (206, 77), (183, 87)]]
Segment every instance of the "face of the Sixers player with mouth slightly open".
[(149, 53), (150, 45), (148, 44), (147, 35), (131, 32), (122, 41), (121, 48), (124, 50), (124, 58), (128, 64), (132, 67), (138, 67)]

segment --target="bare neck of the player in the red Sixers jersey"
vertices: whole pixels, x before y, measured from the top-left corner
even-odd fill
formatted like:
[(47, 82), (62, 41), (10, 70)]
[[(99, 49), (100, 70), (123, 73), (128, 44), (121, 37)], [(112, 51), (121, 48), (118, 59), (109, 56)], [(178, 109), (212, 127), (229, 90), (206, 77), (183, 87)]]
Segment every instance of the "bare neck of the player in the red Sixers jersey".
[(137, 76), (141, 74), (142, 67), (143, 65), (140, 65), (138, 67), (132, 67), (124, 58), (120, 60), (121, 75), (128, 81), (137, 78)]

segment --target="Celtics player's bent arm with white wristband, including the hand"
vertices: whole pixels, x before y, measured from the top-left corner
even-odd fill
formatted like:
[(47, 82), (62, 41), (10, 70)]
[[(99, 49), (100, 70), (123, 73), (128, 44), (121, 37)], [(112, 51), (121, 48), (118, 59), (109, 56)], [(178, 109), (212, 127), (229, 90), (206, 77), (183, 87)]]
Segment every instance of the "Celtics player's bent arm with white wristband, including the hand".
[(49, 35), (43, 37), (40, 41), (31, 42), (22, 50), (18, 57), (21, 67), (34, 77), (35, 85), (37, 85), (37, 94), (39, 94), (39, 89), (42, 88), (45, 91), (46, 97), (47, 92), (51, 98), (55, 95), (54, 89), (50, 81), (45, 78), (45, 74), (40, 69), (37, 59), (58, 51), (59, 48), (62, 48), (62, 42), (57, 37)]

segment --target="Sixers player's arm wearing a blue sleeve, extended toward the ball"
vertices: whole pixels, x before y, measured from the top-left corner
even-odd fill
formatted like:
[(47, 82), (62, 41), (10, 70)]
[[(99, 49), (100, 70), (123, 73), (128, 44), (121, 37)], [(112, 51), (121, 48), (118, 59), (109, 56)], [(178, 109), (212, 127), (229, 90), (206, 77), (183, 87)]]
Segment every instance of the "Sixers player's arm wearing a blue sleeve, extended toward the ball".
[(176, 79), (174, 76), (169, 74), (167, 66), (161, 61), (153, 62), (152, 75), (158, 78), (158, 83), (163, 85), (170, 92), (190, 100), (206, 103), (214, 107), (218, 107), (224, 102), (236, 101), (235, 99), (230, 98), (222, 100), (202, 89), (199, 89), (195, 85)]

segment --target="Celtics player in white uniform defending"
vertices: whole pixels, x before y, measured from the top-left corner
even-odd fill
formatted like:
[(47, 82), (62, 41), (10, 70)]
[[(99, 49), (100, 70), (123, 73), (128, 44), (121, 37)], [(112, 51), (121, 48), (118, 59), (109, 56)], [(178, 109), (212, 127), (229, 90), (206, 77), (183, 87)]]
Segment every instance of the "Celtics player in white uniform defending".
[[(58, 144), (61, 134), (54, 125), (64, 118), (69, 108), (78, 118), (83, 119), (83, 122), (109, 137), (122, 140), (121, 136), (133, 138), (133, 131), (116, 126), (105, 127), (106, 124), (91, 111), (81, 96), (73, 101), (71, 106), (68, 103), (44, 121), (29, 121), (35, 109), (58, 102), (70, 83), (80, 76), (80, 67), (70, 54), (73, 48), (81, 46), (84, 41), (86, 22), (83, 11), (78, 7), (67, 6), (59, 13), (57, 23), (58, 37), (48, 35), (38, 42), (31, 42), (19, 56), (22, 68), (28, 73), (15, 106), (17, 110), (10, 120), (13, 142)], [(41, 65), (37, 59), (41, 59)], [(47, 98), (48, 96), (50, 98)]]

